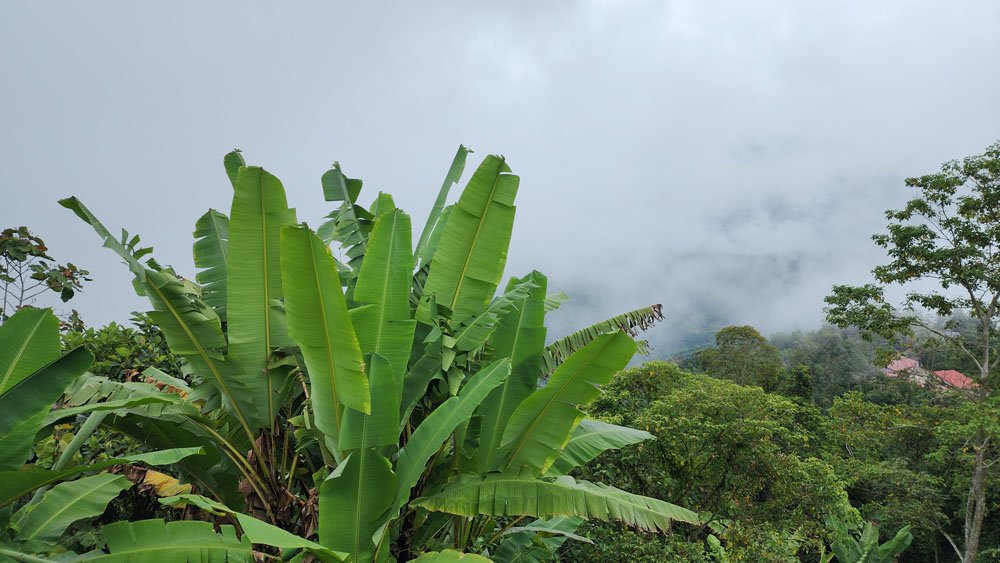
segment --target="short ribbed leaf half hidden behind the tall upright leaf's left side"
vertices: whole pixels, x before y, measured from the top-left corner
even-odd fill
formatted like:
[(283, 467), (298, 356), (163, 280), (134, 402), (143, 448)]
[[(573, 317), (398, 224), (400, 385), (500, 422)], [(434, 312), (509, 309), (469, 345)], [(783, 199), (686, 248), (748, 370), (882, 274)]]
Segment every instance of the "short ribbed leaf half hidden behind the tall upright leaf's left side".
[(201, 268), (195, 279), (201, 285), (202, 299), (225, 321), (229, 217), (209, 209), (195, 223), (194, 238), (194, 265)]

